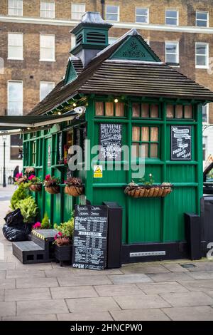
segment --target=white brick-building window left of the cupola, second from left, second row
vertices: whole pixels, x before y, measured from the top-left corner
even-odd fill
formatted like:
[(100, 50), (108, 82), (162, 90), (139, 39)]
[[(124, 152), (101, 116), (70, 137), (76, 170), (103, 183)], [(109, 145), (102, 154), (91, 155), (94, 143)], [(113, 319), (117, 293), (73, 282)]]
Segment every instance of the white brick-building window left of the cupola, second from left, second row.
[(40, 35), (40, 61), (55, 61), (55, 35)]

